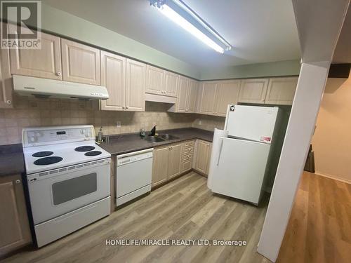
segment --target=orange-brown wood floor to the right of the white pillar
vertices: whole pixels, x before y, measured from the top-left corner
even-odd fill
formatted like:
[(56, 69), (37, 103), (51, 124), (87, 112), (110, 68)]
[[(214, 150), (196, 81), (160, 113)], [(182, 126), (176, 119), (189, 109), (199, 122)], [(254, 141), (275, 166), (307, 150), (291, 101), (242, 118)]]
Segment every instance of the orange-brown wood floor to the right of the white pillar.
[(351, 184), (303, 173), (277, 262), (351, 262)]

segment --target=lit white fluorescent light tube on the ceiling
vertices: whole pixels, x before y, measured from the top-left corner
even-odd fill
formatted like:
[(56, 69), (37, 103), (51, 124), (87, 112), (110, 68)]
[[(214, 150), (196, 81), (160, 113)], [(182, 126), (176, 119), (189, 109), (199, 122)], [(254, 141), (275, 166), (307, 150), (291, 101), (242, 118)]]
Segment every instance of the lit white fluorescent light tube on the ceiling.
[(176, 11), (173, 11), (172, 8), (164, 4), (161, 8), (157, 8), (161, 13), (166, 15), (167, 18), (171, 19), (176, 24), (183, 27), (183, 29), (187, 30), (190, 34), (195, 36), (197, 39), (201, 40), (202, 42), (206, 43), (207, 46), (213, 48), (218, 53), (224, 53), (224, 48), (219, 46), (215, 41), (210, 39), (206, 34), (202, 33), (197, 27), (194, 27), (192, 23), (188, 22), (185, 18), (179, 15)]

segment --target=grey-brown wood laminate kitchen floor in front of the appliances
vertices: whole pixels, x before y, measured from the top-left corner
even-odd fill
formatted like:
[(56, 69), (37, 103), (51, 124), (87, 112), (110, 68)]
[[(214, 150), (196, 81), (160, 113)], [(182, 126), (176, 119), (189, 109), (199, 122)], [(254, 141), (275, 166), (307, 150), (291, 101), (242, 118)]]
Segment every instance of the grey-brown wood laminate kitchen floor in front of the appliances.
[[(256, 252), (267, 198), (260, 207), (213, 195), (190, 173), (109, 217), (5, 262), (269, 262)], [(246, 246), (113, 246), (107, 239), (227, 239)]]

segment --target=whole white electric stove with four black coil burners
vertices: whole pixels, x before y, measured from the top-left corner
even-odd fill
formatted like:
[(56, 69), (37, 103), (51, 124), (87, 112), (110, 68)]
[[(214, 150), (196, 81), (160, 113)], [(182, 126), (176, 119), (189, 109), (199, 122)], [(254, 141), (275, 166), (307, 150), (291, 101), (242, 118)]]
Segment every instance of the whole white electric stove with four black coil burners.
[(110, 214), (111, 154), (93, 126), (25, 128), (22, 144), (38, 247)]

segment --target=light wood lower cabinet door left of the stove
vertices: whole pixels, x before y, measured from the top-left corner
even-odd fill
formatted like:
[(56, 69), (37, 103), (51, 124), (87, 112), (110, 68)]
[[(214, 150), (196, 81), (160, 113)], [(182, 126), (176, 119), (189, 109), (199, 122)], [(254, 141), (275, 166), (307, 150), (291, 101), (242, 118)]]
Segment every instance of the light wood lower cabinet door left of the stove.
[(32, 242), (20, 175), (0, 177), (0, 258)]

